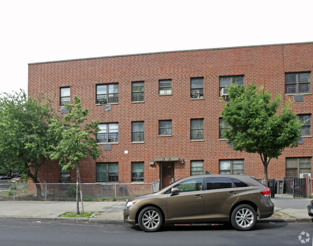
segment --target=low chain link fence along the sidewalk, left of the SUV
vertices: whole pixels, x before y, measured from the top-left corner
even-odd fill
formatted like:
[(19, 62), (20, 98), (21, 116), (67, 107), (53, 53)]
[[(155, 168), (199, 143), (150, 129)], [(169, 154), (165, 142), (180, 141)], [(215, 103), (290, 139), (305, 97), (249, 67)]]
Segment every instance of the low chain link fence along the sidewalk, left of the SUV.
[[(160, 181), (152, 183), (82, 183), (84, 201), (126, 201), (131, 197), (159, 191)], [(80, 199), (80, 192), (79, 192)], [(0, 201), (76, 201), (76, 183), (0, 182)]]

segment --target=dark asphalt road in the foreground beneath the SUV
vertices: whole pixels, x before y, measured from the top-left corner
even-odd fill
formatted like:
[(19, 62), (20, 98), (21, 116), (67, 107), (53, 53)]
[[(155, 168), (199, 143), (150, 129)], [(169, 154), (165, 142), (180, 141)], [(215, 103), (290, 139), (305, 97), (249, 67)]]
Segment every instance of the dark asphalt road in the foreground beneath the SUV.
[[(304, 232), (304, 233), (302, 233)], [(301, 233), (303, 235), (301, 235)], [(309, 234), (309, 237), (308, 234)], [(301, 243), (299, 240), (308, 242)], [(0, 220), (0, 245), (312, 245), (313, 223), (257, 223), (239, 232), (229, 225), (163, 226), (145, 233), (128, 224)]]

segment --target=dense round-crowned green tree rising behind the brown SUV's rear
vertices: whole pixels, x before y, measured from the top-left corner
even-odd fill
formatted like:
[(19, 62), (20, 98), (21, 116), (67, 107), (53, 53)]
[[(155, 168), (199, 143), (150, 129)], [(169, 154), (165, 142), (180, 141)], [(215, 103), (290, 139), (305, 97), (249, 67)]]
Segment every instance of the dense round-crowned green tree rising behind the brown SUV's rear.
[(230, 128), (222, 131), (223, 137), (235, 151), (259, 154), (268, 186), (269, 161), (278, 159), (286, 147), (298, 146), (303, 123), (292, 113), (291, 100), (281, 105), (281, 95), (271, 100), (263, 87), (232, 84), (227, 92), (230, 101), (223, 105), (222, 116)]

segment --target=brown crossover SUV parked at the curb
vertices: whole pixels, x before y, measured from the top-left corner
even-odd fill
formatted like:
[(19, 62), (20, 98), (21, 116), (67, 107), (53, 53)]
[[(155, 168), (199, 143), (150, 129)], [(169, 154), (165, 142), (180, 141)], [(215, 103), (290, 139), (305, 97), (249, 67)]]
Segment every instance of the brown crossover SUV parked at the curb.
[(127, 201), (124, 222), (145, 232), (162, 224), (228, 223), (239, 231), (274, 213), (271, 192), (249, 175), (197, 175)]

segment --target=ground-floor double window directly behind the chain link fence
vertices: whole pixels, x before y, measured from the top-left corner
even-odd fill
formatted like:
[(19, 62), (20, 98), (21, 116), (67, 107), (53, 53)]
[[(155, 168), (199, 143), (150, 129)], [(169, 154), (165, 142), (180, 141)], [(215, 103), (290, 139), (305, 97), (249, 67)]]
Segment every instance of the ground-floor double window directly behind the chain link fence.
[(118, 182), (118, 162), (96, 163), (97, 182)]

